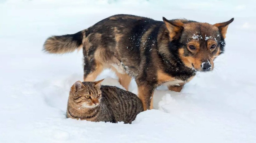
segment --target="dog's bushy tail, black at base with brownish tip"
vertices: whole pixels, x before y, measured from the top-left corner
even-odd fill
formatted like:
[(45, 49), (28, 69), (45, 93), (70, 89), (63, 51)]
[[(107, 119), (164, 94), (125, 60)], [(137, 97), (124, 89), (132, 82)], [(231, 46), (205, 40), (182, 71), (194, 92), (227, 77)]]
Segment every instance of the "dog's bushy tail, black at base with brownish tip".
[(62, 36), (52, 36), (46, 39), (43, 51), (54, 54), (64, 54), (75, 51), (82, 47), (85, 30), (76, 34), (67, 34)]

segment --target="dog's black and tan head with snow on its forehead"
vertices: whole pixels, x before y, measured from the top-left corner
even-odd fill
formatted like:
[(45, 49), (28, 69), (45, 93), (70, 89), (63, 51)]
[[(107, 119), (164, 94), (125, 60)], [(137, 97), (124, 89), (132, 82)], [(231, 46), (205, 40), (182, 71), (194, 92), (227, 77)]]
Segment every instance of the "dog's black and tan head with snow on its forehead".
[(189, 20), (167, 20), (170, 41), (178, 48), (178, 56), (184, 65), (197, 71), (211, 71), (213, 60), (224, 52), (225, 35), (234, 20), (214, 25)]

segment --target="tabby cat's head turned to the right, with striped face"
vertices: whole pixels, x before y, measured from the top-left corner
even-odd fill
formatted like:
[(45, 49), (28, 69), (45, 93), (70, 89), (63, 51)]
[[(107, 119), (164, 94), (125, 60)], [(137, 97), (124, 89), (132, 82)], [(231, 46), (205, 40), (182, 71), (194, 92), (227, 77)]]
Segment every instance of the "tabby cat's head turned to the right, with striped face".
[(81, 105), (82, 108), (94, 108), (100, 104), (101, 101), (101, 82), (81, 82), (74, 83), (69, 92), (69, 101)]

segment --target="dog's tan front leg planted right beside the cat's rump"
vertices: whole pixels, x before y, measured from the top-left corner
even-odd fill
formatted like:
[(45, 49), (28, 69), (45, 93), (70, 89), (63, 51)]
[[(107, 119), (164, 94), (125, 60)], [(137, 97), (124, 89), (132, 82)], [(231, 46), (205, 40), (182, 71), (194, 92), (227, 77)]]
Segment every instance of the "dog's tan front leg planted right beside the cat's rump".
[(155, 84), (140, 83), (138, 84), (138, 96), (142, 102), (144, 111), (153, 109), (153, 94)]

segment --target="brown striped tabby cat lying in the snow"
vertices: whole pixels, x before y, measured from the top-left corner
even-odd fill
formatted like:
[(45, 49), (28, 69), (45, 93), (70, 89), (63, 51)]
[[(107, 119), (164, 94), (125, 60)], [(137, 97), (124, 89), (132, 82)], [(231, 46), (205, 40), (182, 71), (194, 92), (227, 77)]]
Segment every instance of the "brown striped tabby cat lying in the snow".
[(133, 93), (96, 82), (77, 81), (71, 87), (67, 118), (93, 122), (131, 123), (143, 111), (140, 99)]

